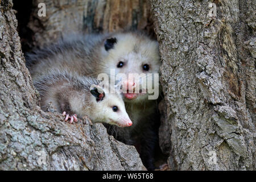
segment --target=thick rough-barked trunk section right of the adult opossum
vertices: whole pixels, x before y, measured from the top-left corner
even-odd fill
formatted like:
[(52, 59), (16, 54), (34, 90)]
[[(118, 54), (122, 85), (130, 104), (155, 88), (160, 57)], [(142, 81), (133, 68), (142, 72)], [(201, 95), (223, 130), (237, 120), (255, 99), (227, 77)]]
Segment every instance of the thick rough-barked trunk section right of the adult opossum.
[(255, 170), (255, 1), (151, 4), (171, 169)]

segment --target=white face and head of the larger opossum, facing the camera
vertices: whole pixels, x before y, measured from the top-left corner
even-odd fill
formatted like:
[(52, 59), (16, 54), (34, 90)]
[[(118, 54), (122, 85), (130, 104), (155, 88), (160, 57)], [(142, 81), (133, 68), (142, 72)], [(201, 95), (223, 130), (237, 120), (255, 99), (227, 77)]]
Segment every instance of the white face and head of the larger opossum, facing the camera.
[[(121, 80), (125, 101), (147, 100), (152, 92), (148, 92), (148, 85), (143, 86), (146, 81), (152, 82), (151, 90), (159, 92), (158, 75), (154, 80), (160, 68), (158, 42), (134, 32), (117, 33), (105, 39), (101, 52), (99, 67), (110, 78)], [(153, 73), (152, 77), (148, 73)]]

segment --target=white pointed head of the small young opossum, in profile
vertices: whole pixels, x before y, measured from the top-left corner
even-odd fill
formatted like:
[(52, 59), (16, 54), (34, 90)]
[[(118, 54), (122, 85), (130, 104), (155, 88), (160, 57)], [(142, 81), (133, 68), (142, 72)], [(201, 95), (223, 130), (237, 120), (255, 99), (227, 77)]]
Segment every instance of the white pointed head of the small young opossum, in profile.
[(114, 92), (114, 90), (108, 92), (108, 90), (98, 85), (92, 85), (90, 93), (92, 103), (90, 118), (94, 122), (104, 122), (119, 127), (133, 125), (119, 93)]

